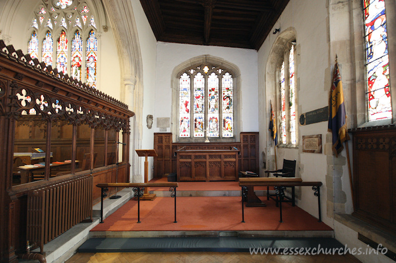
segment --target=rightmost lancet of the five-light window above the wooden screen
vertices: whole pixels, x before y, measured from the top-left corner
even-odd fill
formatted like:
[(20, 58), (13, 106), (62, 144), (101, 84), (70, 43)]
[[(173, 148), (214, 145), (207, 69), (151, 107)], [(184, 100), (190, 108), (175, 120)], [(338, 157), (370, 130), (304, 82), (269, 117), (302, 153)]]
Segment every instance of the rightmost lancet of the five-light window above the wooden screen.
[(91, 85), (93, 88), (96, 88), (97, 62), (98, 62), (98, 39), (95, 37), (95, 32), (91, 30), (90, 36), (87, 39), (85, 83)]

